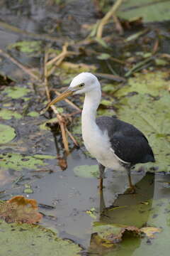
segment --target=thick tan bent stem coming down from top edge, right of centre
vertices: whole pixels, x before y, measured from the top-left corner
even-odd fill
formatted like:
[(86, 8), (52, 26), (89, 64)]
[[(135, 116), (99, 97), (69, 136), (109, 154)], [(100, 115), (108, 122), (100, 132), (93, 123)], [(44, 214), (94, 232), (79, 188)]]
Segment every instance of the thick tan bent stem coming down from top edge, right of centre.
[(117, 0), (115, 2), (115, 4), (113, 4), (111, 10), (108, 11), (107, 14), (103, 18), (101, 18), (101, 21), (99, 22), (99, 25), (98, 25), (98, 28), (97, 28), (97, 32), (96, 32), (97, 38), (101, 38), (102, 37), (103, 26), (106, 25), (106, 23), (111, 18), (111, 16), (113, 16), (113, 15), (115, 16), (115, 11), (118, 10), (118, 8), (122, 4), (122, 2), (123, 2), (123, 0)]

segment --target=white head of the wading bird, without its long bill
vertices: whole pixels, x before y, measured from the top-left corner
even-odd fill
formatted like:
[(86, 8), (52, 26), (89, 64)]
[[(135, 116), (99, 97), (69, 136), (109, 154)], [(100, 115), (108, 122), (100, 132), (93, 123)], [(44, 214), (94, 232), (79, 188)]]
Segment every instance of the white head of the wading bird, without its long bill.
[(71, 90), (73, 95), (76, 95), (90, 92), (91, 90), (101, 90), (101, 85), (95, 75), (84, 72), (73, 78), (68, 90)]

